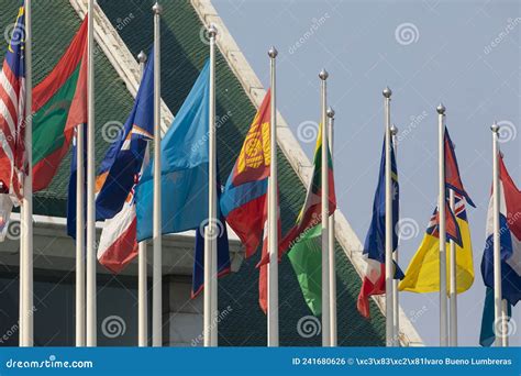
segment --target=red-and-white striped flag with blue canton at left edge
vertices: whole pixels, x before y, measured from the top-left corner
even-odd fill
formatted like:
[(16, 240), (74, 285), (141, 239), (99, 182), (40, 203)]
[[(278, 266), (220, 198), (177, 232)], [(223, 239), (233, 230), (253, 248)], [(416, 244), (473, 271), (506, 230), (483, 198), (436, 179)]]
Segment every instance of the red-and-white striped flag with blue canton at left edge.
[(22, 199), (25, 174), (25, 7), (19, 9), (11, 42), (0, 71), (0, 240), (3, 241), (13, 203)]

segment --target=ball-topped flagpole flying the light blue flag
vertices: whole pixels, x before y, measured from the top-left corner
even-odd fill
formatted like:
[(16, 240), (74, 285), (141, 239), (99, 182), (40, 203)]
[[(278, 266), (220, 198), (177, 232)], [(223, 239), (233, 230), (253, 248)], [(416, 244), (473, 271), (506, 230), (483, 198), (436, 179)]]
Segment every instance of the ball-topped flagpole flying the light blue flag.
[(211, 345), (218, 345), (218, 250), (217, 239), (220, 235), (217, 213), (217, 142), (215, 142), (215, 36), (217, 27), (210, 25), (210, 106), (209, 106), (209, 132), (210, 132), (210, 158), (209, 158), (209, 223), (208, 228), (211, 231), (211, 319), (213, 320), (210, 329)]

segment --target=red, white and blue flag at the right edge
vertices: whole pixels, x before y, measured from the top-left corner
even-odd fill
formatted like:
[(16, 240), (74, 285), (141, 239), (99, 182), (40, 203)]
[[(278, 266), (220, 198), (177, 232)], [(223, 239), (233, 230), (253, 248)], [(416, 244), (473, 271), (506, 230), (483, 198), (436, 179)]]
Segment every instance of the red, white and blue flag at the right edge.
[[(521, 299), (521, 191), (499, 156), (499, 235), (502, 299), (516, 306)], [(485, 285), (494, 289), (494, 200), (487, 215), (487, 241), (481, 259)]]

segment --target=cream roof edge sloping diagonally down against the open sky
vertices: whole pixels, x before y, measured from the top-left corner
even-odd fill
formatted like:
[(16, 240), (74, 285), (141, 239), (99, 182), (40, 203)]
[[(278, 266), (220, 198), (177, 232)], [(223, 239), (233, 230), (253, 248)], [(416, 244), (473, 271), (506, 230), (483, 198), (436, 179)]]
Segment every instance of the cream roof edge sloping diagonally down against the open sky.
[[(253, 70), (244, 54), (239, 48), (239, 45), (225, 26), (223, 20), (219, 16), (215, 8), (211, 3), (211, 0), (190, 0), (190, 2), (206, 27), (208, 27), (211, 23), (215, 24), (218, 27), (220, 37), (217, 40), (217, 44), (221, 51), (221, 54), (225, 58), (232, 71), (235, 74), (235, 77), (243, 86), (244, 91), (248, 96), (252, 103), (258, 108), (266, 93), (266, 89)], [(290, 163), (297, 176), (307, 187), (311, 179), (313, 166), (300, 147), (298, 141), (295, 139), (295, 135), (288, 123), (278, 110), (277, 144)], [(341, 244), (345, 255), (355, 270), (362, 277), (366, 267), (362, 256), (363, 246), (359, 239), (356, 236), (352, 226), (347, 222), (347, 219), (340, 209), (337, 209), (335, 212), (335, 239)], [(380, 309), (381, 313), (385, 316), (385, 299), (381, 296), (373, 297), (373, 299)], [(403, 346), (423, 346), (423, 341), (421, 340), (415, 328), (412, 325), (401, 306), (399, 309), (399, 336), (401, 344)]]

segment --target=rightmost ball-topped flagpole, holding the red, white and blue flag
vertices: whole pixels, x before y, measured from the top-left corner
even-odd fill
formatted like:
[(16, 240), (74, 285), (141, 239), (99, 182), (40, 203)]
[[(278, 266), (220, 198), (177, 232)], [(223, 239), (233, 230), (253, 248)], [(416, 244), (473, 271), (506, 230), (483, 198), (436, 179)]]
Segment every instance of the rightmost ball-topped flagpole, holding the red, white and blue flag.
[(496, 334), (496, 346), (507, 346), (505, 331), (505, 316), (502, 305), (501, 285), (501, 233), (499, 223), (500, 197), (499, 197), (499, 129), (495, 122), (490, 128), (492, 131), (492, 206), (494, 206), (494, 330)]

